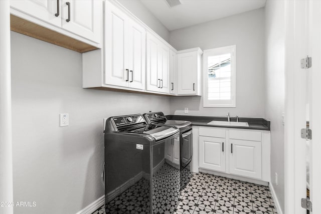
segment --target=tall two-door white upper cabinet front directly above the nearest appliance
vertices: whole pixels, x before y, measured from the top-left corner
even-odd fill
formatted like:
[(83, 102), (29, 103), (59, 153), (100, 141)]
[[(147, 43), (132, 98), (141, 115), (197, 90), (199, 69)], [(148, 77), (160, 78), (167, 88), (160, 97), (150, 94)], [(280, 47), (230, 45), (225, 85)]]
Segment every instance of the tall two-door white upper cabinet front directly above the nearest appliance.
[(145, 88), (145, 29), (105, 2), (105, 84)]

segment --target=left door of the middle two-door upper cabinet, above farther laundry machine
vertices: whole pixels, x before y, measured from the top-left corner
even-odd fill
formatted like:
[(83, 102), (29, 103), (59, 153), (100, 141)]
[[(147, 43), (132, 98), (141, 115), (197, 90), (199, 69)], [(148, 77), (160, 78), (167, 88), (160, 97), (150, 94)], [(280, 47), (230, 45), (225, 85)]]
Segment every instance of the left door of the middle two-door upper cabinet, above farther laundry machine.
[(146, 89), (159, 91), (161, 79), (158, 78), (158, 43), (157, 38), (146, 35)]

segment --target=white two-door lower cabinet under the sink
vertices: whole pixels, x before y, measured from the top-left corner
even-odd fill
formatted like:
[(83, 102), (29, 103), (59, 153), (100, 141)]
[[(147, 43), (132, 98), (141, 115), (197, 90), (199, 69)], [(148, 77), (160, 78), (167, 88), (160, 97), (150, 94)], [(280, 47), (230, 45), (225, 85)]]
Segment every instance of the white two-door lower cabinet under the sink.
[(270, 133), (199, 128), (199, 168), (270, 181)]

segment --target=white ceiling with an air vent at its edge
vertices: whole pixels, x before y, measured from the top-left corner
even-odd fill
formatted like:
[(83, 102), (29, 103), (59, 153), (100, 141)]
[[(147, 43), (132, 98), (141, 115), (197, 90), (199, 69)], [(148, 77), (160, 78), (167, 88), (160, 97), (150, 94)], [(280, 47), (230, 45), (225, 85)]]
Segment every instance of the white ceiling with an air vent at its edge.
[(263, 8), (266, 0), (180, 0), (170, 8), (165, 0), (140, 0), (170, 30)]

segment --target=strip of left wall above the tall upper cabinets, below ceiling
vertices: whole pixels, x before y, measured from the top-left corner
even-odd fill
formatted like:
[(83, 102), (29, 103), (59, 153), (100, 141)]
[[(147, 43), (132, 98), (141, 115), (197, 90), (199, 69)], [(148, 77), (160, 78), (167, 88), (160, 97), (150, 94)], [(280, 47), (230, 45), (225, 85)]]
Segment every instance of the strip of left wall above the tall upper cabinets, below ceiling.
[(118, 0), (118, 2), (164, 40), (170, 41), (170, 31), (139, 0)]

